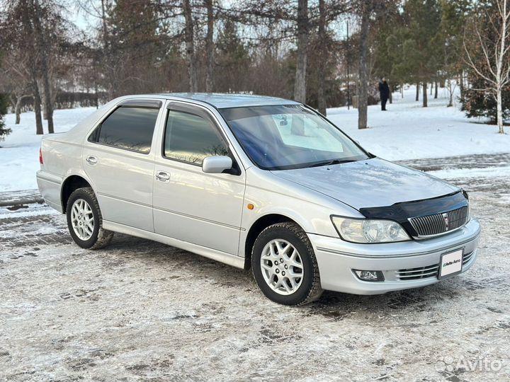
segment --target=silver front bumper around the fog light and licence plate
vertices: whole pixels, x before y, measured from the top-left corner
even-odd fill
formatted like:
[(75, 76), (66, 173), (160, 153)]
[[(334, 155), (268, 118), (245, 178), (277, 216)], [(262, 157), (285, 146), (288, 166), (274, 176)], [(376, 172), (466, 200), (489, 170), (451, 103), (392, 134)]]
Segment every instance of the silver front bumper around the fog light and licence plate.
[[(437, 238), (400, 243), (356, 244), (309, 233), (315, 250), (322, 289), (351, 294), (383, 294), (438, 282), (441, 255), (463, 249), (462, 272), (475, 262), (480, 223), (471, 219), (463, 228)], [(358, 279), (353, 270), (379, 270), (382, 282)]]

